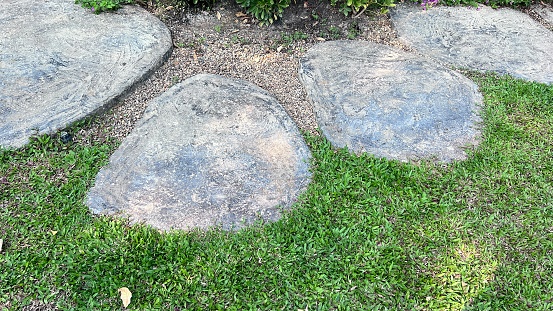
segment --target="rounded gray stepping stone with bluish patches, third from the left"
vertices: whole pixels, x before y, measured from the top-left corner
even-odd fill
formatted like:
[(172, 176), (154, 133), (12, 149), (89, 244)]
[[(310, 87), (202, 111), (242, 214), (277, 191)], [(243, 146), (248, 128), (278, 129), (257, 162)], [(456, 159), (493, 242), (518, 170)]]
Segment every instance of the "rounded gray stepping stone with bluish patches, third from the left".
[(401, 161), (462, 160), (482, 96), (461, 74), (381, 44), (331, 41), (300, 61), (323, 134), (337, 147)]

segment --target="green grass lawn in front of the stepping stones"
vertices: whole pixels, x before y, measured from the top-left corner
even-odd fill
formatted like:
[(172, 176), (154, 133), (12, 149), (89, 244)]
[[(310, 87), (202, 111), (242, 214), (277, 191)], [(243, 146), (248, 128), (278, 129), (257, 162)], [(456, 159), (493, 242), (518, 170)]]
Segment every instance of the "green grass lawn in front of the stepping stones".
[(0, 153), (0, 309), (552, 310), (553, 86), (470, 74), (482, 144), (404, 164), (308, 138), (281, 221), (159, 233), (83, 205), (113, 150), (41, 137)]

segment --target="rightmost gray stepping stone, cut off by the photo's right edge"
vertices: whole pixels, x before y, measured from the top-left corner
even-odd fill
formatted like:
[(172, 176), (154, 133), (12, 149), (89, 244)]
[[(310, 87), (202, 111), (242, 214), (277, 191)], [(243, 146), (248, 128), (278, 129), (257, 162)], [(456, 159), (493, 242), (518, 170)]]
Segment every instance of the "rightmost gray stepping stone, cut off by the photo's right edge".
[(391, 17), (400, 39), (443, 63), (553, 83), (553, 32), (524, 13), (399, 4)]

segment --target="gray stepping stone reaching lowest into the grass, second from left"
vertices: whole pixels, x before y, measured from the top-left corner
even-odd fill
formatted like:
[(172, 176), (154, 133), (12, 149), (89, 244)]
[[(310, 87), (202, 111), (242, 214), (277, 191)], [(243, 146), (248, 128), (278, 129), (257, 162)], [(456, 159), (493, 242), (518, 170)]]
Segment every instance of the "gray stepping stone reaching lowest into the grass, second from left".
[(162, 230), (274, 221), (310, 180), (310, 152), (266, 91), (197, 75), (154, 99), (87, 204)]

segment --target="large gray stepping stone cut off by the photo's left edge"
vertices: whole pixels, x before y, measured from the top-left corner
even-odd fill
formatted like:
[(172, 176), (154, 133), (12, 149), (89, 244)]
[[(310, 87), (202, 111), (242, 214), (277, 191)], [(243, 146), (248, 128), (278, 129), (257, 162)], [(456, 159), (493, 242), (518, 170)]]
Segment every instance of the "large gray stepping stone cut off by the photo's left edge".
[(21, 147), (112, 104), (169, 55), (167, 27), (136, 6), (2, 0), (0, 146)]

